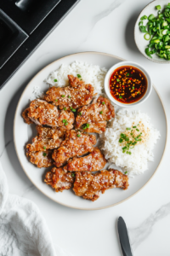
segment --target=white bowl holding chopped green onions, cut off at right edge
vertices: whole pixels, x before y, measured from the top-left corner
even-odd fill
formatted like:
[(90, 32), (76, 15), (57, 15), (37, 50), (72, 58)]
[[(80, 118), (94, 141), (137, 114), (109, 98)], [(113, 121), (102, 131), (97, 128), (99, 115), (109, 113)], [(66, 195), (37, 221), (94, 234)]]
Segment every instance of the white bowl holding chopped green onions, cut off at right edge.
[[(146, 7), (144, 7), (144, 9), (141, 11), (141, 13), (139, 14), (138, 19), (136, 20), (136, 24), (134, 26), (134, 41), (139, 49), (139, 51), (141, 52), (141, 54), (144, 55), (144, 57), (146, 57), (148, 60), (156, 62), (156, 63), (163, 63), (163, 64), (168, 64), (170, 63), (170, 61), (166, 61), (165, 59), (161, 59), (158, 55), (154, 54), (152, 55), (152, 59), (145, 54), (145, 49), (147, 48), (147, 45), (150, 44), (150, 41), (147, 41), (144, 39), (144, 34), (143, 32), (141, 32), (139, 30), (139, 21), (140, 18), (144, 15), (146, 15), (147, 17), (149, 15), (155, 15), (157, 16), (157, 10), (156, 10), (156, 5), (161, 5), (161, 9), (164, 9), (165, 5), (167, 5), (168, 1), (167, 0), (155, 0), (151, 3), (149, 3), (148, 5), (146, 5)], [(143, 20), (143, 24), (145, 26), (145, 24), (148, 22), (148, 20)]]

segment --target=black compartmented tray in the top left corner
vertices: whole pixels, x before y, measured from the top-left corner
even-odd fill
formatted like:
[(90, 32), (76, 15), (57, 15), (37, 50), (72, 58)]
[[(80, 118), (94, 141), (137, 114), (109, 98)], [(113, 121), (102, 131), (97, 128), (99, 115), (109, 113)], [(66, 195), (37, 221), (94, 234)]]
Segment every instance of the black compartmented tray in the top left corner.
[(79, 1), (0, 1), (0, 89)]

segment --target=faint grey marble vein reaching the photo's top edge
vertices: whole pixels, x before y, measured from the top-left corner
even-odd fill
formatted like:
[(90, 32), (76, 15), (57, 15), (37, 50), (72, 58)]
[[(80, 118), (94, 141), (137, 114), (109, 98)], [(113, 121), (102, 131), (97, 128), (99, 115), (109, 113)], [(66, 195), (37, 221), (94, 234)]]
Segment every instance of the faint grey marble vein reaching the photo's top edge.
[(96, 26), (98, 24), (98, 22), (100, 20), (105, 19), (107, 16), (111, 15), (111, 13), (118, 8), (122, 3), (124, 3), (126, 0), (115, 0), (113, 1), (113, 3), (111, 3), (111, 5), (109, 7), (107, 7), (106, 9), (104, 9), (101, 13), (99, 13), (98, 15), (94, 16), (94, 19), (92, 20), (92, 26), (89, 30), (89, 32), (86, 35), (86, 38), (82, 41), (82, 44), (84, 44), (88, 38), (90, 37), (90, 35), (92, 34), (93, 30), (94, 30), (94, 26)]

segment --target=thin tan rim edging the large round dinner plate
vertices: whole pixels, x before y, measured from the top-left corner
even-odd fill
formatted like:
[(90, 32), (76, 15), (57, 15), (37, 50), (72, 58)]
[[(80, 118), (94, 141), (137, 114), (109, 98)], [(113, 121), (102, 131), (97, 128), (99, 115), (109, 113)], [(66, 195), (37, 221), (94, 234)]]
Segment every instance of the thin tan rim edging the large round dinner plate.
[[(154, 0), (154, 1), (155, 1), (155, 0)], [(154, 2), (154, 1), (153, 1), (153, 2)], [(57, 60), (55, 60), (55, 61), (53, 61), (53, 62), (50, 62), (47, 66), (43, 67), (43, 68), (30, 80), (30, 82), (26, 85), (26, 88), (31, 84), (32, 80), (35, 79), (39, 73), (42, 73), (43, 70), (44, 70), (46, 67), (50, 66), (50, 65), (53, 64), (54, 62), (63, 60), (63, 59), (65, 59), (65, 58), (68, 57), (68, 56), (83, 55), (83, 54), (108, 55), (108, 56), (111, 56), (111, 57), (116, 58), (116, 59), (118, 59), (118, 60), (126, 61), (125, 59), (122, 59), (122, 58), (119, 57), (119, 56), (112, 55), (112, 54), (108, 54), (108, 53), (104, 53), (104, 52), (98, 52), (98, 51), (85, 51), (85, 52), (74, 53), (74, 54), (71, 54), (71, 55), (65, 55), (64, 57), (61, 57), (61, 58), (59, 58), (59, 59), (57, 59)], [(152, 85), (153, 85), (153, 88), (156, 90), (155, 85), (154, 85), (154, 84), (152, 84)], [(25, 90), (26, 90), (26, 88), (25, 88)], [(16, 107), (16, 109), (15, 109), (15, 113), (14, 113), (14, 123), (13, 123), (14, 149), (15, 149), (15, 152), (16, 152), (16, 154), (17, 154), (18, 160), (19, 160), (19, 162), (20, 162), (20, 166), (22, 167), (23, 171), (26, 173), (26, 176), (29, 178), (29, 180), (31, 181), (31, 183), (33, 183), (33, 185), (34, 185), (39, 191), (41, 191), (43, 195), (46, 195), (50, 200), (52, 200), (52, 201), (54, 201), (54, 202), (57, 202), (59, 205), (62, 205), (62, 206), (64, 206), (64, 207), (69, 207), (69, 208), (72, 208), (72, 209), (84, 210), (84, 211), (96, 211), (96, 210), (102, 210), (102, 209), (106, 209), (106, 208), (110, 208), (110, 207), (116, 207), (117, 205), (121, 204), (122, 202), (129, 200), (129, 199), (132, 198), (134, 195), (137, 195), (137, 194), (139, 193), (139, 191), (142, 190), (142, 189), (144, 189), (144, 187), (150, 182), (150, 180), (152, 179), (152, 177), (155, 176), (155, 174), (156, 174), (156, 172), (157, 172), (159, 166), (161, 166), (161, 162), (162, 162), (162, 159), (163, 159), (163, 157), (164, 157), (164, 155), (165, 155), (165, 151), (166, 151), (166, 148), (167, 148), (167, 132), (166, 132), (165, 148), (164, 148), (164, 150), (163, 150), (163, 154), (162, 154), (161, 160), (160, 160), (160, 162), (159, 162), (159, 164), (158, 164), (158, 166), (157, 166), (157, 168), (156, 168), (156, 171), (152, 174), (152, 176), (151, 176), (150, 179), (144, 184), (144, 186), (142, 186), (142, 187), (141, 187), (138, 191), (136, 191), (133, 195), (130, 195), (130, 196), (128, 196), (126, 199), (124, 199), (124, 200), (122, 200), (122, 201), (119, 201), (119, 202), (117, 202), (117, 203), (111, 204), (111, 205), (109, 205), (109, 206), (106, 206), (106, 207), (96, 207), (96, 208), (92, 208), (92, 209), (91, 209), (91, 208), (83, 208), (83, 207), (71, 207), (71, 206), (66, 205), (65, 203), (61, 203), (61, 202), (59, 202), (59, 201), (57, 201), (57, 200), (54, 200), (54, 198), (51, 198), (49, 195), (45, 194), (45, 193), (42, 191), (42, 189), (39, 189), (39, 188), (37, 187), (37, 184), (34, 183), (34, 181), (32, 181), (32, 179), (31, 179), (31, 177), (29, 177), (29, 176), (27, 175), (27, 172), (26, 172), (24, 166), (22, 165), (22, 163), (21, 163), (21, 161), (20, 161), (20, 157), (19, 157), (19, 154), (18, 154), (18, 151), (17, 151), (16, 140), (15, 140), (15, 119), (16, 119), (16, 114), (17, 114), (17, 112), (18, 112), (18, 108), (19, 108), (19, 105), (20, 105), (20, 101), (21, 101), (21, 99), (22, 99), (23, 94), (25, 93), (25, 90), (23, 90), (23, 92), (22, 92), (22, 94), (21, 94), (21, 96), (20, 96), (20, 100), (19, 100), (19, 102), (18, 102), (18, 104), (17, 104), (17, 107)], [(157, 90), (156, 90), (156, 94), (157, 94), (157, 96), (158, 96), (159, 99), (160, 99), (161, 106), (162, 106), (163, 112), (164, 112), (164, 114), (165, 114), (166, 129), (167, 129), (167, 131), (168, 131), (168, 127), (167, 127), (167, 113), (166, 113), (166, 111), (165, 111), (163, 102), (161, 101), (161, 96), (160, 96), (160, 94), (159, 94), (159, 92), (158, 92)]]

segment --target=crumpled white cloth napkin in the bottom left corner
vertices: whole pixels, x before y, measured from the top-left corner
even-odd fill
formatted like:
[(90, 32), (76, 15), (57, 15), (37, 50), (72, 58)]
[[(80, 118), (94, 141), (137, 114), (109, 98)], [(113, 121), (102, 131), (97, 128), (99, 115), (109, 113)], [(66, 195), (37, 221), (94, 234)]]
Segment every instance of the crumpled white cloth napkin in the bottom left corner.
[(37, 206), (18, 195), (8, 194), (0, 162), (0, 256), (71, 256), (54, 248), (47, 224)]

